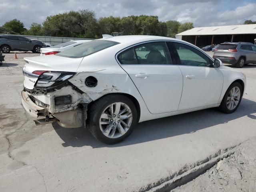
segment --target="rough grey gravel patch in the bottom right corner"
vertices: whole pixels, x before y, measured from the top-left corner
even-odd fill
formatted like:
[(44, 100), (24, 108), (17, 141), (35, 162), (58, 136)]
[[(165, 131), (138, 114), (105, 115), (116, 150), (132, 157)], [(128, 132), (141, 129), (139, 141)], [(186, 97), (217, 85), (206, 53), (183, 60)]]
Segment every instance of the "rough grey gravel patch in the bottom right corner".
[(255, 192), (256, 138), (240, 144), (204, 174), (171, 192)]

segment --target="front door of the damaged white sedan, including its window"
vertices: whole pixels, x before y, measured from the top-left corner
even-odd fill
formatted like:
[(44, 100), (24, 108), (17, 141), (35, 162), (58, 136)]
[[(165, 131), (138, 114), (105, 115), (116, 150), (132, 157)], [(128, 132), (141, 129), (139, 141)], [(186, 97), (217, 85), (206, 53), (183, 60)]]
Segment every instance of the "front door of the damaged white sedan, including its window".
[(183, 90), (178, 110), (218, 104), (223, 74), (212, 67), (212, 60), (188, 44), (172, 42), (178, 66), (183, 74)]

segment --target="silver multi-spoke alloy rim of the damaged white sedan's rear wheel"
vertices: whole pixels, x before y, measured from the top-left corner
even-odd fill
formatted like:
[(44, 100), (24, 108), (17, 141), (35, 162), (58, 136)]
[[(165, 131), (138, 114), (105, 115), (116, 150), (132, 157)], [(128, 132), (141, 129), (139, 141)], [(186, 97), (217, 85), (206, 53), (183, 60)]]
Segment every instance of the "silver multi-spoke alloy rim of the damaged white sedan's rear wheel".
[(132, 124), (132, 111), (122, 102), (107, 106), (100, 116), (100, 130), (108, 138), (126, 134)]

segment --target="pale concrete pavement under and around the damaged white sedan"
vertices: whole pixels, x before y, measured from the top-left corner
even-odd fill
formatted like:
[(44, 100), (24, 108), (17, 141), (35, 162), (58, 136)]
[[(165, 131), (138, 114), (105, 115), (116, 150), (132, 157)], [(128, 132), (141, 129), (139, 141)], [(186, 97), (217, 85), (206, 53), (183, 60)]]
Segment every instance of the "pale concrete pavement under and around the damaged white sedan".
[[(23, 57), (0, 66), (0, 191), (147, 191), (219, 150), (256, 136), (256, 65), (238, 69), (247, 88), (233, 114), (201, 110), (138, 124), (120, 144), (83, 128), (35, 126), (20, 101)], [(232, 66), (231, 66), (232, 67)]]

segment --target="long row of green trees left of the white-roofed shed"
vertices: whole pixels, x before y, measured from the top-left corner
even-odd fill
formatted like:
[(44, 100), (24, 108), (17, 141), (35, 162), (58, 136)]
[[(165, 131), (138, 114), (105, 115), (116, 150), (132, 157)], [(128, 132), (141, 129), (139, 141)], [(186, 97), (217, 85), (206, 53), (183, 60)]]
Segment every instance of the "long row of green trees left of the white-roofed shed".
[(35, 36), (102, 38), (102, 34), (122, 32), (123, 35), (156, 35), (175, 37), (178, 32), (193, 28), (193, 23), (160, 22), (158, 16), (101, 17), (92, 10), (69, 11), (48, 16), (41, 24), (32, 23), (29, 30), (19, 20), (11, 20), (0, 27), (0, 33)]

